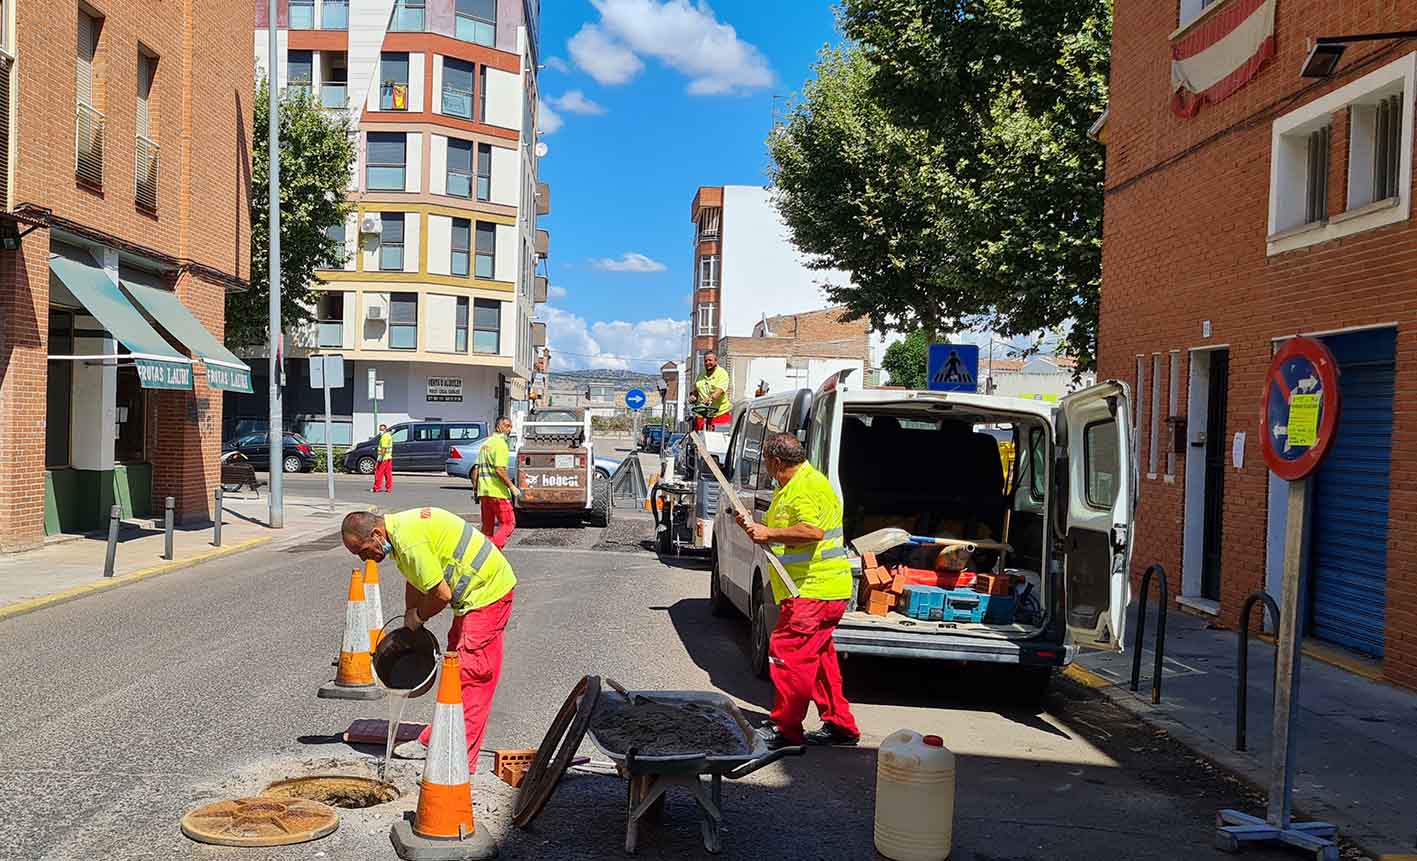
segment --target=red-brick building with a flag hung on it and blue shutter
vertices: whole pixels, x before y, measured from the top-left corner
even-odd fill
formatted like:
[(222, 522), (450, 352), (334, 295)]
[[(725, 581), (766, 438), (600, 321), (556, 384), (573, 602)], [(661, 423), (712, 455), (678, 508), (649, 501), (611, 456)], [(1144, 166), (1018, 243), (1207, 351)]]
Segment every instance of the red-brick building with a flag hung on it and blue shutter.
[(1117, 4), (1100, 377), (1136, 395), (1138, 569), (1234, 626), (1281, 589), (1285, 494), (1260, 452), (1275, 348), (1325, 341), (1342, 374), (1314, 480), (1309, 642), (1417, 687), (1417, 41), (1352, 44), (1301, 76), (1315, 37), (1417, 27), (1414, 0)]

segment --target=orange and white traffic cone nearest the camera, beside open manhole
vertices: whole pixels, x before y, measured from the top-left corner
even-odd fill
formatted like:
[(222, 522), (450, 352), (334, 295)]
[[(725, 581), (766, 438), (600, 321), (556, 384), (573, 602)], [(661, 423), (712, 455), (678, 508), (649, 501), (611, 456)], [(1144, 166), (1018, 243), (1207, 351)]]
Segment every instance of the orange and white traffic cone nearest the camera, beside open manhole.
[(486, 828), (476, 830), (472, 819), (472, 775), (456, 651), (444, 656), (424, 779), (418, 785), (418, 810), (411, 823), (407, 819), (394, 823), (388, 838), (404, 861), (461, 861), (497, 854)]

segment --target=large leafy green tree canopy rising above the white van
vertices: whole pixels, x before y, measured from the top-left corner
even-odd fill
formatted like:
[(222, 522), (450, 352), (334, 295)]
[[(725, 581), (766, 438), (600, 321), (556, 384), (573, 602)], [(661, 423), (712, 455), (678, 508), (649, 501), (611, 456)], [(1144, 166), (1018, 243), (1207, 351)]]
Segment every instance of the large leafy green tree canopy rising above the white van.
[(877, 329), (1058, 331), (1090, 368), (1110, 0), (845, 0), (769, 149), (798, 246)]

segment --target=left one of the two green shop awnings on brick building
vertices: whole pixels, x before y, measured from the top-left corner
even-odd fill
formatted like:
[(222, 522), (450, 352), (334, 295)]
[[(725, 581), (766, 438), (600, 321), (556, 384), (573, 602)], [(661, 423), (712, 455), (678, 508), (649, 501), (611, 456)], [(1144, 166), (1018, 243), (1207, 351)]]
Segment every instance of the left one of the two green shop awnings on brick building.
[(130, 355), (58, 355), (51, 358), (95, 360), (132, 358), (137, 365), (137, 380), (143, 388), (191, 389), (191, 360), (171, 348), (157, 334), (133, 303), (123, 296), (113, 279), (98, 266), (85, 266), (65, 256), (50, 256), (50, 273), (94, 314), (103, 329)]

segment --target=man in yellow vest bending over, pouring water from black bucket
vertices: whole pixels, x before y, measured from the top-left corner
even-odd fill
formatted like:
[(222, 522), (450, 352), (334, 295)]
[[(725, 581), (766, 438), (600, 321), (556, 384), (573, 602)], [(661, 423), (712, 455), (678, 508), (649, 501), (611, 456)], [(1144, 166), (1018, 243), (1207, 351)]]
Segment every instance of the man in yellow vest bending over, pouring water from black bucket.
[[(412, 508), (381, 517), (354, 511), (344, 517), (344, 548), (364, 561), (393, 555), (404, 586), (404, 626), (418, 630), (452, 606), (448, 650), (456, 651), (462, 681), (462, 717), (468, 734), (468, 772), (478, 752), (502, 675), (502, 632), (512, 616), (517, 578), (492, 540), (451, 511)], [(418, 739), (395, 748), (402, 759), (428, 755), (424, 728)]]

